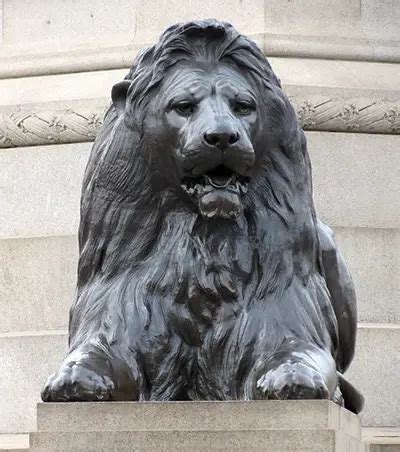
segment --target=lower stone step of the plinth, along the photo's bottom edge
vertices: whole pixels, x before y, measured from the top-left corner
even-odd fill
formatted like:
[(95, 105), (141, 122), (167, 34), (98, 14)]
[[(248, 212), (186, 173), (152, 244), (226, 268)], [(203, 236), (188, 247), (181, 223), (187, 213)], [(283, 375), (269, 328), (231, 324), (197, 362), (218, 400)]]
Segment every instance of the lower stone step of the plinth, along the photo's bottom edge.
[[(352, 448), (350, 449), (350, 445)], [(33, 433), (33, 451), (358, 452), (359, 441), (332, 430)], [(354, 448), (356, 446), (357, 448)], [(361, 450), (361, 449), (360, 449)]]

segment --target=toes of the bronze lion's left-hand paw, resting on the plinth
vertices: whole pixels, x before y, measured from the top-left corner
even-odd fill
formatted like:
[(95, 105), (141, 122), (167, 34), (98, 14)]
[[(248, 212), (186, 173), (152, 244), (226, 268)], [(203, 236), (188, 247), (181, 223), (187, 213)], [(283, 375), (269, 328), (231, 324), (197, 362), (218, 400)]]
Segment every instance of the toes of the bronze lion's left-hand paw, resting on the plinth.
[(64, 364), (51, 375), (42, 391), (44, 402), (105, 401), (112, 398), (115, 384), (108, 376), (89, 369), (84, 363)]

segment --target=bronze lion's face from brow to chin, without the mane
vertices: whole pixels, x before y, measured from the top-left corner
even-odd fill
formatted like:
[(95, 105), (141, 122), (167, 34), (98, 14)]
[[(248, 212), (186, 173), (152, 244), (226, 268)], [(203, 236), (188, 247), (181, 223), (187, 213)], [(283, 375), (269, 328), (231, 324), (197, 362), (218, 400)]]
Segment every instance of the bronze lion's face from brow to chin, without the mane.
[(203, 216), (237, 218), (260, 134), (256, 93), (229, 64), (196, 60), (177, 63), (160, 88), (148, 133), (171, 157), (169, 173)]

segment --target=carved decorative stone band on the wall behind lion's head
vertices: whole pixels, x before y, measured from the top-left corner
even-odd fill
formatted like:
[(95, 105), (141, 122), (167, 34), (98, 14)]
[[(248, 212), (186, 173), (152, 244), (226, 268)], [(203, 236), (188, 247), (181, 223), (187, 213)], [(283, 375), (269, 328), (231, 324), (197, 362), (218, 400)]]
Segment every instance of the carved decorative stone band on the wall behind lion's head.
[[(287, 89), (304, 130), (400, 133), (400, 101), (367, 97), (332, 97)], [(67, 109), (0, 113), (0, 148), (93, 141), (107, 109), (96, 105)]]

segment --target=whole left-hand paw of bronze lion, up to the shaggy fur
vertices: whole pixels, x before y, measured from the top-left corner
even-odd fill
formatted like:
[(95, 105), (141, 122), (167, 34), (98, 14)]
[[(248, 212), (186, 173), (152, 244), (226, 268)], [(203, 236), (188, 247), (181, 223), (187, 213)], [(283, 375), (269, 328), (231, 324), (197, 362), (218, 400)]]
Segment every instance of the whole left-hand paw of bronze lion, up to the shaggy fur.
[(45, 402), (138, 400), (143, 385), (136, 361), (118, 357), (99, 338), (74, 348), (42, 391)]

